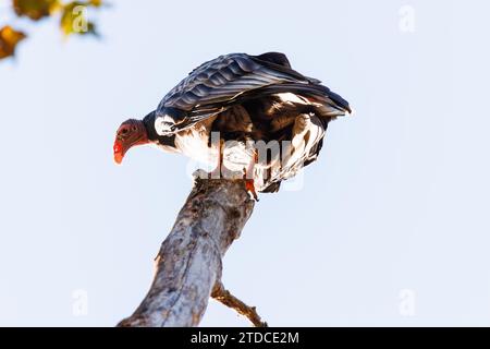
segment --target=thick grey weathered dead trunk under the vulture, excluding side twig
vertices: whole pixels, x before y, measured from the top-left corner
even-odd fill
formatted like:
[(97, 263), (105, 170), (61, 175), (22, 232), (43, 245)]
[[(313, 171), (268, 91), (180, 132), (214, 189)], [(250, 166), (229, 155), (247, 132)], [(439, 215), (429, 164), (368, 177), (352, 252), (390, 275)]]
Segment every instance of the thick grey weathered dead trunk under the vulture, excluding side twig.
[[(150, 290), (118, 326), (197, 326), (221, 286), (222, 257), (252, 215), (245, 181), (200, 179), (161, 244)], [(199, 178), (200, 177), (200, 178)]]

